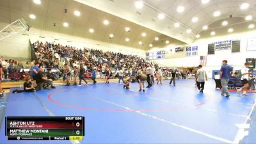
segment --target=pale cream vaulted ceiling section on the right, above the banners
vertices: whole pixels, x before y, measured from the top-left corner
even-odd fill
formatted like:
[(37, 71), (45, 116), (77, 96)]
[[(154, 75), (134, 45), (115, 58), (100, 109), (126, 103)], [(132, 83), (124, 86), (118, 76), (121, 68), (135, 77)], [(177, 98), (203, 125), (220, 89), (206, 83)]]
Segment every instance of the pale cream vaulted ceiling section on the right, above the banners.
[[(230, 15), (233, 18), (242, 18), (239, 22), (244, 22), (244, 24), (248, 24), (244, 20), (246, 15), (252, 15), (253, 19), (249, 20), (251, 22), (254, 22), (253, 20), (256, 19), (255, 0), (209, 0), (209, 3), (206, 4), (202, 4), (201, 0), (138, 0), (143, 3), (142, 8), (134, 6), (136, 0), (75, 1), (130, 20), (187, 44), (196, 40), (196, 34), (200, 34), (203, 31), (202, 27), (205, 25), (209, 26), (209, 28), (210, 26), (216, 26), (214, 27), (216, 35), (218, 31), (223, 31), (223, 28), (216, 29), (221, 26), (221, 23), (215, 22), (226, 19)], [(245, 10), (241, 10), (240, 6), (243, 3), (248, 3), (250, 6)], [(177, 12), (178, 6), (184, 6), (184, 12)], [(214, 17), (213, 13), (215, 11), (220, 11), (220, 16)], [(159, 13), (163, 13), (165, 18), (162, 20), (158, 19)], [(198, 21), (192, 22), (191, 19), (193, 17), (197, 17)], [(175, 28), (175, 22), (179, 22), (179, 28)], [(236, 23), (232, 24), (236, 25)], [(239, 25), (241, 26), (241, 24)], [(211, 28), (213, 29), (213, 27)], [(193, 33), (186, 33), (187, 29), (191, 29)], [(244, 29), (244, 31), (246, 30), (248, 28)], [(234, 32), (236, 32), (236, 29), (234, 29)]]

